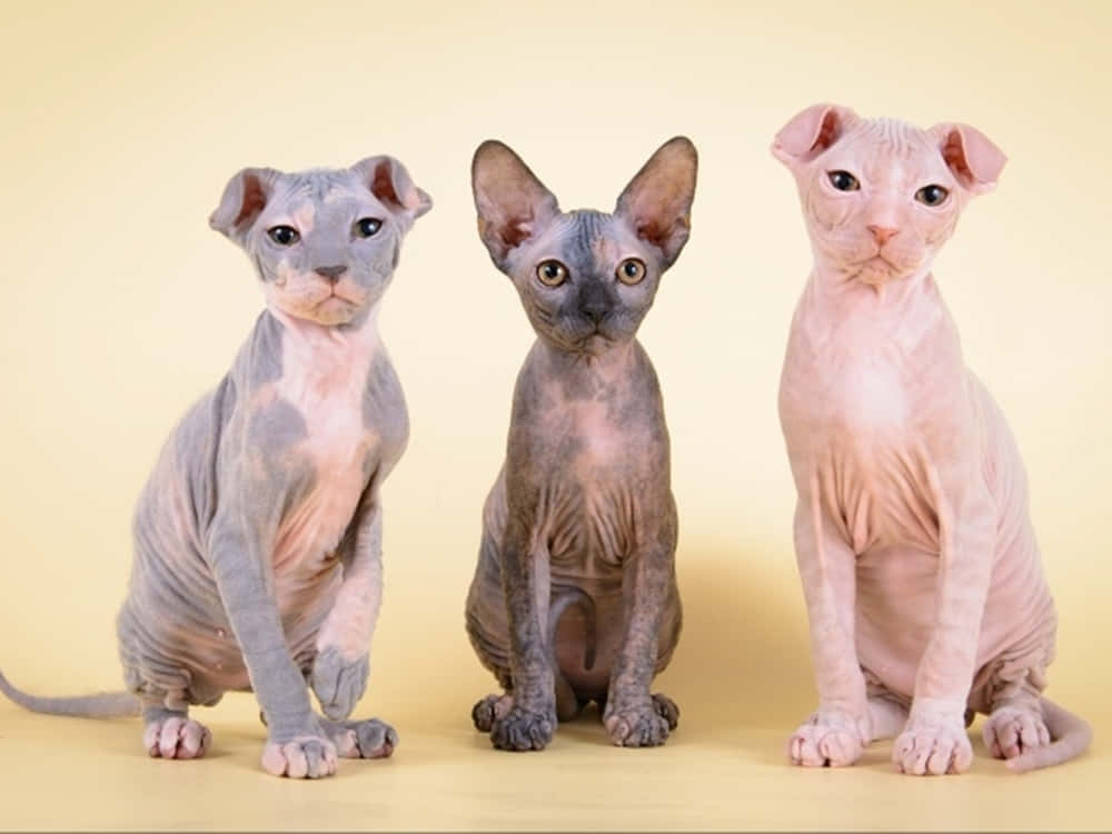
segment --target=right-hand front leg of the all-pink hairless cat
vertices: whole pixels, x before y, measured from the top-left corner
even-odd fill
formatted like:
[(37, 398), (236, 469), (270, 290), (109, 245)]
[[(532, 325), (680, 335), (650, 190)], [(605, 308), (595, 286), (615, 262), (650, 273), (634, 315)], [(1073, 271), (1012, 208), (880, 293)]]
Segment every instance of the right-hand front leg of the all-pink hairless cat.
[(896, 767), (916, 776), (963, 773), (973, 762), (965, 707), (996, 529), (995, 506), (976, 471), (929, 465), (927, 478), (939, 513), (937, 618), (916, 672), (907, 725), (892, 748)]

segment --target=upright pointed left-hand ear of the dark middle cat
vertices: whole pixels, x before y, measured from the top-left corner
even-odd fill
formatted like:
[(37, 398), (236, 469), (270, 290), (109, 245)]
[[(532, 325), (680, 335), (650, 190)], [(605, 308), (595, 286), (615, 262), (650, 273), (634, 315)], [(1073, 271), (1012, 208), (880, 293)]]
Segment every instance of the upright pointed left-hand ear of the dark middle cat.
[(552, 191), (514, 151), (487, 139), (471, 159), (471, 192), (479, 216), (479, 237), (495, 266), (559, 214)]

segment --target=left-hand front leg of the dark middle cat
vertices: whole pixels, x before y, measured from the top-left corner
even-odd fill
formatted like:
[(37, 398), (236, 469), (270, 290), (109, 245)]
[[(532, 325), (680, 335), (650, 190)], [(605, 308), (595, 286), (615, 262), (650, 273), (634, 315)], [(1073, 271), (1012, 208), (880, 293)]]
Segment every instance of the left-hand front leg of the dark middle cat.
[(548, 554), (533, 542), (520, 512), (510, 512), (503, 539), (502, 584), (509, 623), (513, 704), (493, 713), (498, 749), (544, 749), (556, 729), (556, 678), (546, 636), (552, 585)]

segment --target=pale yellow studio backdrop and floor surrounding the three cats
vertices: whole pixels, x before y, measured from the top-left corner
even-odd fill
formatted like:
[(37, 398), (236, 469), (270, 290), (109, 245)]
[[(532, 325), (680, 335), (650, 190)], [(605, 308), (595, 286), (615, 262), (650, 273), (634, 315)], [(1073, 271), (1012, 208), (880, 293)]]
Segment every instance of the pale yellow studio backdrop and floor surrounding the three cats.
[[(119, 685), (113, 617), (155, 455), (216, 384), (261, 294), (206, 219), (247, 165), (398, 156), (435, 199), (383, 312), (413, 419), (385, 488), (386, 595), (361, 712), (388, 763), (328, 783), (262, 775), (251, 698), (199, 717), (201, 763), (151, 762), (138, 722), (0, 704), (2, 827), (1103, 827), (1112, 3), (652, 1), (532, 4), (14, 3), (0, 8), (0, 667), (51, 694)], [(823, 100), (974, 123), (1009, 155), (936, 275), (1009, 415), (1061, 614), (1049, 694), (1088, 716), (1081, 761), (1015, 777), (803, 772), (812, 708), (775, 396), (811, 258), (767, 152)], [(668, 745), (595, 718), (539, 755), (494, 752), (494, 681), (463, 628), (479, 510), (533, 338), (475, 232), (475, 147), (514, 147), (565, 208), (609, 209), (648, 155), (701, 153), (691, 242), (642, 340), (665, 391), (686, 628), (659, 688)]]

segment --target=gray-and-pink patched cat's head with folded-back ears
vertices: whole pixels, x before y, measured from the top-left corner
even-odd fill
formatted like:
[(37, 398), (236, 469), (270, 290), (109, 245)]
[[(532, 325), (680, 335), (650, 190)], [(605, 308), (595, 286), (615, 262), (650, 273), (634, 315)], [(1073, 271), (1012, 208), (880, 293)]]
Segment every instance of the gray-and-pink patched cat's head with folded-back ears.
[(245, 168), (209, 225), (251, 258), (270, 306), (346, 325), (381, 298), (401, 238), (431, 206), (405, 167), (381, 156), (300, 173)]

